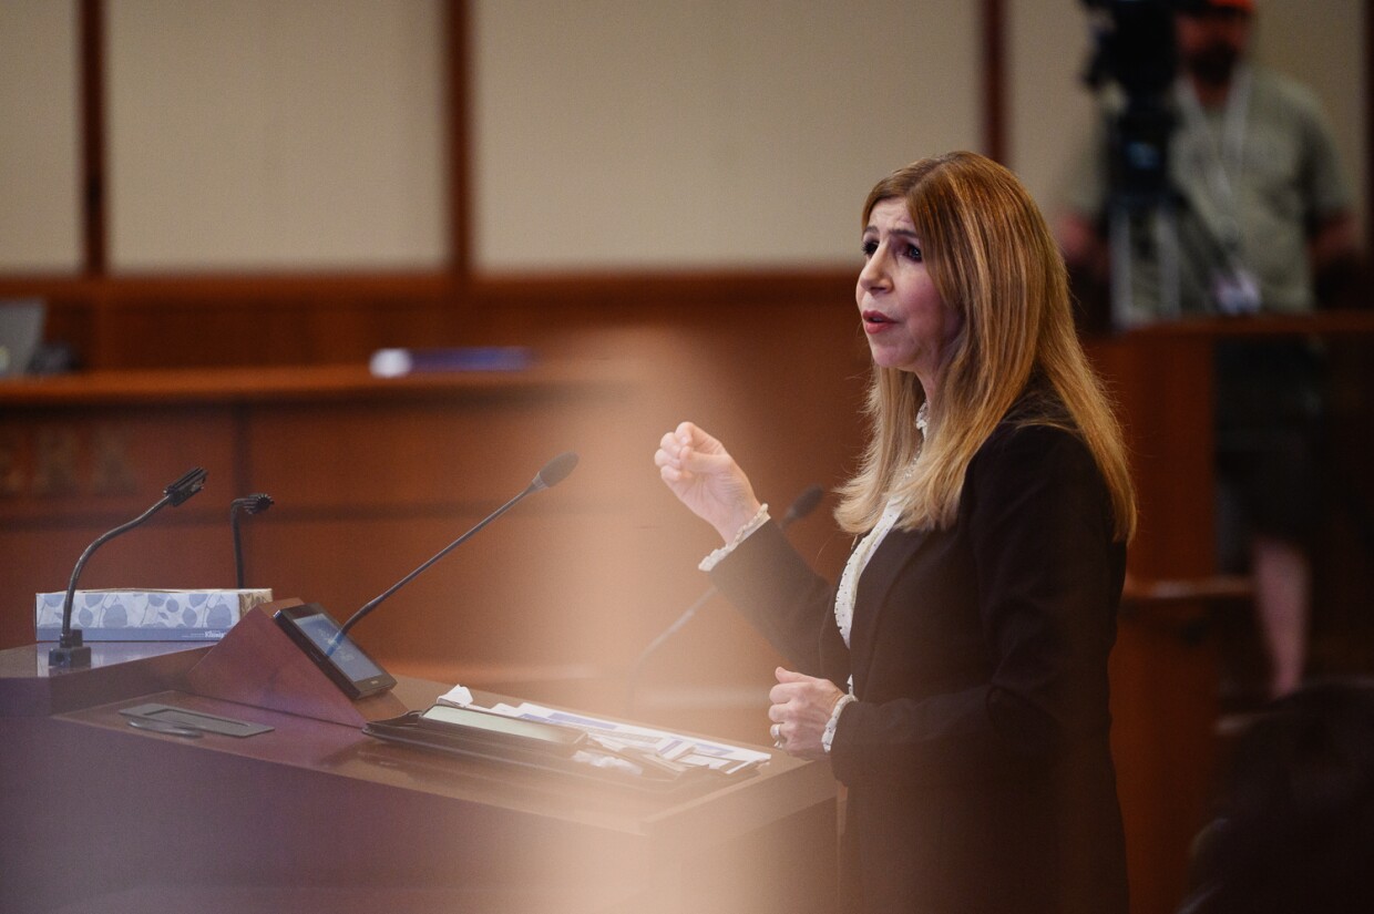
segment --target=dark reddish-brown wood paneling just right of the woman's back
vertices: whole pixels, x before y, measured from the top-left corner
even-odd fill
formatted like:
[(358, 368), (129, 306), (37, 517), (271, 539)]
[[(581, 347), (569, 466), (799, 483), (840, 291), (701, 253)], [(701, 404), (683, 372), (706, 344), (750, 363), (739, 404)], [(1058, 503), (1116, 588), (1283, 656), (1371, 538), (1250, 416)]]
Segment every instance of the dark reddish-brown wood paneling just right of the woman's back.
[[(1140, 522), (1136, 579), (1215, 572), (1212, 349), (1205, 337), (1134, 335), (1090, 352), (1118, 401)], [(1164, 368), (1167, 366), (1167, 370)], [(1183, 898), (1189, 845), (1206, 821), (1215, 766), (1216, 645), (1189, 638), (1204, 601), (1128, 602), (1112, 651), (1112, 750), (1127, 823), (1131, 910), (1165, 914)]]

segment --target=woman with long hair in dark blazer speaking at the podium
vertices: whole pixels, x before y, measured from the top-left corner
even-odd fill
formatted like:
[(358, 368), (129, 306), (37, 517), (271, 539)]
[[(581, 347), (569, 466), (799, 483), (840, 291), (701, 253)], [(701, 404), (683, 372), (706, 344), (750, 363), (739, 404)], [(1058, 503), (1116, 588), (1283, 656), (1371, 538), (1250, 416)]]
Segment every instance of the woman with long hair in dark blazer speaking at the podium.
[(725, 543), (712, 580), (791, 662), (778, 746), (848, 785), (845, 910), (1125, 911), (1107, 654), (1135, 498), (1063, 261), (973, 153), (881, 180), (863, 256), (870, 427), (838, 584), (706, 432), (665, 434), (660, 474)]

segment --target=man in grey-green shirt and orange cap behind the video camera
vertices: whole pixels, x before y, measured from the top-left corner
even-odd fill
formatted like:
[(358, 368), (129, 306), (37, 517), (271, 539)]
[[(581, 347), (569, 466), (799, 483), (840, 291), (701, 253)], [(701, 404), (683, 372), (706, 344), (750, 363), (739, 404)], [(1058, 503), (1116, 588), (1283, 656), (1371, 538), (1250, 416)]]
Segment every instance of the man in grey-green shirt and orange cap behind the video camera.
[[(1058, 225), (1079, 296), (1112, 282), (1110, 319), (1098, 311), (1096, 324), (1117, 330), (1311, 312), (1320, 282), (1352, 267), (1356, 243), (1325, 115), (1307, 88), (1249, 60), (1254, 0), (1172, 7), (1178, 78), (1162, 93), (1161, 186), (1153, 199), (1123, 194), (1110, 154), (1121, 144), (1106, 136), (1121, 135), (1131, 106), (1105, 98), (1103, 135), (1084, 151)], [(1254, 576), (1278, 695), (1301, 682), (1307, 651), (1320, 353), (1305, 339), (1250, 339), (1216, 350), (1219, 546), (1223, 570), (1249, 565)]]

